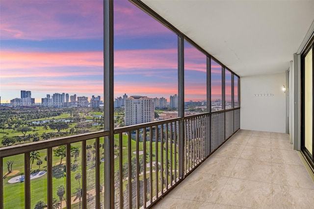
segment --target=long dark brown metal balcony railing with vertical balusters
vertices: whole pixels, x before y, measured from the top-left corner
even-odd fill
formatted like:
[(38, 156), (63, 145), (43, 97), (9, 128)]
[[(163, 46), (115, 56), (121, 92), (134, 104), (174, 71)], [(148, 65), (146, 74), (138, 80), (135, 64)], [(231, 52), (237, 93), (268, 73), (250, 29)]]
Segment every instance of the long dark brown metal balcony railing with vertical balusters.
[[(105, 193), (110, 191), (114, 191), (112, 208), (150, 208), (237, 131), (239, 123), (240, 108), (233, 108), (117, 128), (109, 139), (114, 143), (114, 160), (105, 160), (109, 131), (0, 148), (0, 209), (9, 209), (14, 201), (26, 209), (38, 201), (48, 208), (104, 208)], [(56, 152), (61, 148), (64, 154)], [(30, 169), (34, 151), (47, 159), (40, 186)], [(11, 177), (3, 165), (10, 157), (24, 158), (24, 170), (16, 180), (22, 179), (20, 183), (8, 183)], [(113, 178), (105, 172), (110, 162)], [(114, 188), (105, 185), (105, 178), (112, 178)], [(14, 194), (17, 187), (11, 185), (24, 189)], [(44, 198), (36, 199), (36, 191), (42, 191)], [(13, 194), (19, 198), (12, 199)]]

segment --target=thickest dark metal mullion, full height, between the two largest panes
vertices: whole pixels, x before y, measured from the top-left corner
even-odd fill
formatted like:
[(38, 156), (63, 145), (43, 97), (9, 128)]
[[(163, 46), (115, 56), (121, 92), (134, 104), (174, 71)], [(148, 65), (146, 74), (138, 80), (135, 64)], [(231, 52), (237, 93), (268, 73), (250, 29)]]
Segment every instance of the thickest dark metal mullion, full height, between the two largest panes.
[(105, 206), (114, 208), (113, 1), (104, 0)]

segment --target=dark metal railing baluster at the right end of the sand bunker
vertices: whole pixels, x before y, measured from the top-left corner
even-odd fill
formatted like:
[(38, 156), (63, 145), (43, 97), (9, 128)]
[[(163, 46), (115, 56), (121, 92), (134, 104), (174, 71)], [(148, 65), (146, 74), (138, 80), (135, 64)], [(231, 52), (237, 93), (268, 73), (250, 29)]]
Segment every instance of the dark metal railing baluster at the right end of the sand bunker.
[(47, 149), (47, 208), (52, 208), (52, 148)]

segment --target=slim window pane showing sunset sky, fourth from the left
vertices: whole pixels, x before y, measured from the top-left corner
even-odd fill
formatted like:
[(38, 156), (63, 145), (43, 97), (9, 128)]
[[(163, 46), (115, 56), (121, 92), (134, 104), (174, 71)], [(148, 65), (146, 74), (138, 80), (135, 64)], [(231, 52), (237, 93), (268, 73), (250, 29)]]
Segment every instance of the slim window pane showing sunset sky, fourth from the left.
[(222, 108), (222, 67), (211, 59), (211, 111), (221, 110)]

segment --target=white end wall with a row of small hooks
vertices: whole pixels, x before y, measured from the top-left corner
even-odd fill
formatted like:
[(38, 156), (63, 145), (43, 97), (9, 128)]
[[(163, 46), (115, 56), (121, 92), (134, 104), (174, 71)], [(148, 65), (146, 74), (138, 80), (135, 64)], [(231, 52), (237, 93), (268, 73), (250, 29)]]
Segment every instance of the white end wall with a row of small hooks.
[[(286, 74), (241, 77), (240, 127), (246, 130), (286, 132)], [(273, 94), (273, 96), (255, 96)]]

